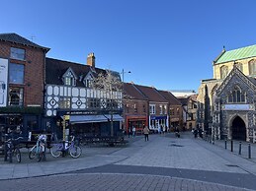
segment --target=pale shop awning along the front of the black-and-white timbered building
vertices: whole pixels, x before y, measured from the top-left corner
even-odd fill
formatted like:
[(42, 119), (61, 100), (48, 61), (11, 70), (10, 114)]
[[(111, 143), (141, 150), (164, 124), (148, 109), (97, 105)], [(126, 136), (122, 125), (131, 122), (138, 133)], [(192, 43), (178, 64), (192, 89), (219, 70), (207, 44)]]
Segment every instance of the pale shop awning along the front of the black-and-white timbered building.
[[(70, 115), (70, 123), (99, 123), (111, 120), (111, 115)], [(118, 114), (113, 115), (113, 121), (123, 121), (124, 118)]]

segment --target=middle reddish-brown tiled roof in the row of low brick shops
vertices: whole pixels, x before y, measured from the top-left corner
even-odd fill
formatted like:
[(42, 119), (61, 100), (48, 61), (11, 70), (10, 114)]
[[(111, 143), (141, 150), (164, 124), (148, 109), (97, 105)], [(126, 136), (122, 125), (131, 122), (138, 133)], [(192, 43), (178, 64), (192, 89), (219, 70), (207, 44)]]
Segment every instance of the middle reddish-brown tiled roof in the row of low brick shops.
[(161, 96), (155, 88), (145, 87), (140, 85), (133, 85), (137, 90), (139, 90), (144, 96), (148, 97), (150, 101), (156, 102), (168, 102), (164, 96)]

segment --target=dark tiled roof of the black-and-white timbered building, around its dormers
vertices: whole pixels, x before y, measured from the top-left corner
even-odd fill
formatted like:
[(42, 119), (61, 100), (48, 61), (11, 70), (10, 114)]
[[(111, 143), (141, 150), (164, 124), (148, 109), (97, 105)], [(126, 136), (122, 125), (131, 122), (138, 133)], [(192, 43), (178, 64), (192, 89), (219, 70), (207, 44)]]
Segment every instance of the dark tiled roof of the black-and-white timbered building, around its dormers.
[[(83, 79), (89, 71), (91, 71), (90, 66), (78, 64), (74, 62), (68, 62), (63, 60), (57, 60), (53, 58), (45, 59), (45, 81), (46, 84), (52, 85), (63, 85), (62, 76), (67, 71), (68, 68), (71, 68), (74, 71), (75, 75), (78, 77), (76, 81), (77, 87), (84, 87), (81, 79)], [(95, 68), (97, 74), (105, 73), (103, 69)]]

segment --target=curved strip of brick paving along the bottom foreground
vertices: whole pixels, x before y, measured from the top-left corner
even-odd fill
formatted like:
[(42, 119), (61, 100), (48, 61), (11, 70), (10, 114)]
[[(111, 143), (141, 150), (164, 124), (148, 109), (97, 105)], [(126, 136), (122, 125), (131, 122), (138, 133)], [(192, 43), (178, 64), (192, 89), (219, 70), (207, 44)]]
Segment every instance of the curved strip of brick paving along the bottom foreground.
[[(45, 184), (46, 182), (46, 184)], [(187, 190), (242, 191), (248, 190), (190, 179), (141, 174), (67, 174), (1, 181), (1, 191), (21, 190)], [(19, 189), (17, 189), (19, 188)]]

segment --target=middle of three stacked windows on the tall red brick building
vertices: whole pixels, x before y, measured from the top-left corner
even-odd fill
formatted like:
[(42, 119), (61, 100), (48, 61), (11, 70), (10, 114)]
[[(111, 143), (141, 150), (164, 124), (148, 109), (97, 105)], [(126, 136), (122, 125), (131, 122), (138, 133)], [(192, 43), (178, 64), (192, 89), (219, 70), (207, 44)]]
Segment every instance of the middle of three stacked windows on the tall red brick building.
[(10, 63), (9, 83), (24, 84), (24, 65), (23, 64)]

